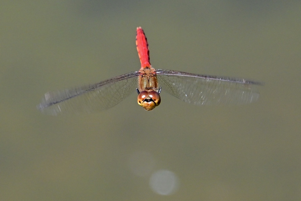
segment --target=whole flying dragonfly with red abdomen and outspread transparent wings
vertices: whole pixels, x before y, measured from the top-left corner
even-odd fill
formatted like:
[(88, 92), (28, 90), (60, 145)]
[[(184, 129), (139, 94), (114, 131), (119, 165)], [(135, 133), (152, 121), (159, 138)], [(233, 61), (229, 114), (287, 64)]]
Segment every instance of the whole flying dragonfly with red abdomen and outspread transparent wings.
[(92, 85), (47, 92), (37, 108), (51, 115), (92, 113), (115, 106), (135, 91), (138, 104), (147, 111), (160, 105), (161, 91), (194, 105), (248, 104), (258, 100), (258, 86), (263, 85), (259, 81), (154, 69), (144, 31), (141, 27), (136, 31), (139, 71)]

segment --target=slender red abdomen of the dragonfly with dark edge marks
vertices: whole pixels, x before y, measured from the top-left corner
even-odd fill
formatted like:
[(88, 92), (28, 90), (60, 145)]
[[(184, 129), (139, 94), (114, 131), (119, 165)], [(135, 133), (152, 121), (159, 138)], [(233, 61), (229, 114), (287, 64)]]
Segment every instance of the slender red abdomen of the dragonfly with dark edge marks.
[(141, 69), (145, 69), (146, 67), (151, 67), (148, 44), (147, 44), (145, 34), (141, 27), (137, 27), (136, 46), (137, 46), (138, 56), (141, 62)]

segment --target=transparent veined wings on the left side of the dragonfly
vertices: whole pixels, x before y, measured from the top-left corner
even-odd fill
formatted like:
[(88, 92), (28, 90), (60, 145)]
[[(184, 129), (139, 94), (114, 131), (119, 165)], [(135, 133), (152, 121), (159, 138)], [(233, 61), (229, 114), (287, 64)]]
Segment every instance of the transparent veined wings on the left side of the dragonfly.
[(51, 115), (108, 109), (135, 92), (138, 75), (138, 72), (130, 72), (94, 85), (48, 92), (37, 107), (42, 113)]

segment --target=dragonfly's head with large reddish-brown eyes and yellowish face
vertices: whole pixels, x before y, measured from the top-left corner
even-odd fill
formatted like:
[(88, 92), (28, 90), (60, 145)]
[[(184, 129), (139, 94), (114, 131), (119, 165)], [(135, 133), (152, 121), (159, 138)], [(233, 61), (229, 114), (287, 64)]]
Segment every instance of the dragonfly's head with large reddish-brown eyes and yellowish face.
[(138, 104), (141, 105), (145, 110), (151, 111), (158, 105), (160, 105), (161, 98), (157, 91), (141, 91), (138, 94)]

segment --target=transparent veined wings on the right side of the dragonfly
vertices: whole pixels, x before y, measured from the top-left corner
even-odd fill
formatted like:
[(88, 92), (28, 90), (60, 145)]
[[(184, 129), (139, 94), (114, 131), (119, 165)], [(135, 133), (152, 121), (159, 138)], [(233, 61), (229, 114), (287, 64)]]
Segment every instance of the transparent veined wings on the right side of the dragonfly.
[(247, 104), (258, 100), (261, 82), (158, 69), (162, 91), (195, 105)]

